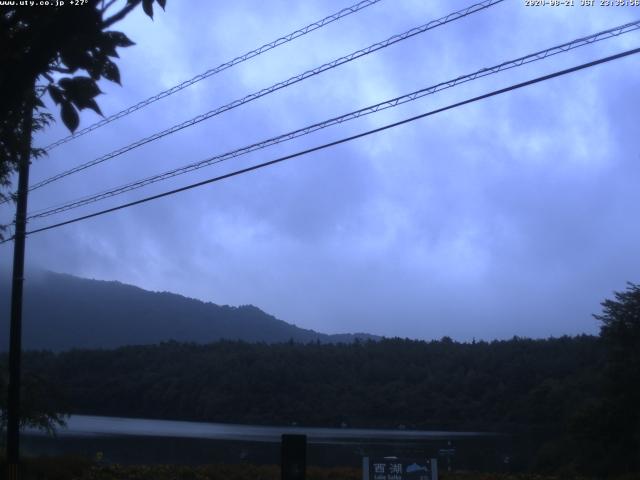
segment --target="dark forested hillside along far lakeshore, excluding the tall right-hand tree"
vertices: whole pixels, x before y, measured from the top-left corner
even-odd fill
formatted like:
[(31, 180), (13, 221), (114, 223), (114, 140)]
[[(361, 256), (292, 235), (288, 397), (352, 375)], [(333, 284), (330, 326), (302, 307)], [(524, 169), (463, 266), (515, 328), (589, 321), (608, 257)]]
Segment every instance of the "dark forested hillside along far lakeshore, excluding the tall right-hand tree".
[(492, 431), (563, 428), (597, 394), (602, 361), (591, 336), (467, 344), (171, 342), (25, 358), (60, 386), (74, 413)]

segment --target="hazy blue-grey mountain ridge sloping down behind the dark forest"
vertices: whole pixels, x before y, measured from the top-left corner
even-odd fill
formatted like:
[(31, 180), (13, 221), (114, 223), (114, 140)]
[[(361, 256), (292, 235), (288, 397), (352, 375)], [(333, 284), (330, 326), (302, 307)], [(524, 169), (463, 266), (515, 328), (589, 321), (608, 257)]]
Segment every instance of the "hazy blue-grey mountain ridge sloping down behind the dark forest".
[[(10, 285), (0, 281), (1, 331), (9, 331)], [(165, 341), (217, 340), (350, 343), (366, 333), (326, 334), (280, 320), (254, 305), (218, 305), (177, 293), (145, 290), (117, 280), (38, 272), (24, 288), (23, 348), (116, 348)], [(8, 337), (8, 335), (7, 335)], [(8, 340), (0, 344), (7, 350)]]

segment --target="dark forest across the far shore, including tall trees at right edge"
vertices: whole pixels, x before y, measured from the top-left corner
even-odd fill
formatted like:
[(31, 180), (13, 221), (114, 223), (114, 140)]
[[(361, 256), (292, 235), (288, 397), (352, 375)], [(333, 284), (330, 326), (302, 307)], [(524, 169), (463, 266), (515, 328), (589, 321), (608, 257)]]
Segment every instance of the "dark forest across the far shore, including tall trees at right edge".
[(598, 337), (30, 351), (25, 379), (49, 387), (24, 396), (78, 414), (491, 431), (536, 438), (547, 469), (638, 472), (640, 286), (602, 305)]

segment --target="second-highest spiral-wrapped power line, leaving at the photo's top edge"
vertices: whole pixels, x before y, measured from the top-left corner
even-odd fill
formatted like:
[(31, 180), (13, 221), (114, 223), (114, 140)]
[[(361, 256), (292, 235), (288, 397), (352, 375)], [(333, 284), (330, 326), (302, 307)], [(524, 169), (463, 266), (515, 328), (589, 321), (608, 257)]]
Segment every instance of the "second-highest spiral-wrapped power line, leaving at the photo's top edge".
[(437, 20), (432, 20), (431, 22), (429, 22), (427, 24), (424, 24), (424, 25), (422, 25), (420, 27), (415, 27), (415, 28), (412, 28), (410, 30), (407, 30), (404, 33), (401, 33), (401, 34), (398, 34), (398, 35), (394, 35), (394, 36), (392, 36), (392, 37), (390, 37), (390, 38), (388, 38), (386, 40), (383, 40), (382, 42), (374, 43), (373, 45), (370, 45), (370, 46), (368, 46), (366, 48), (363, 48), (361, 50), (357, 50), (357, 51), (355, 51), (353, 53), (350, 53), (349, 55), (346, 55), (344, 57), (340, 57), (340, 58), (338, 58), (336, 60), (333, 60), (333, 61), (331, 61), (329, 63), (325, 63), (324, 65), (321, 65), (321, 66), (316, 67), (314, 69), (307, 70), (306, 72), (301, 73), (300, 75), (296, 75), (296, 76), (291, 77), (291, 78), (289, 78), (289, 79), (287, 79), (285, 81), (276, 83), (276, 84), (274, 84), (274, 85), (272, 85), (272, 86), (270, 86), (268, 88), (264, 88), (264, 89), (262, 89), (262, 90), (260, 90), (258, 92), (255, 92), (255, 93), (252, 93), (250, 95), (247, 95), (244, 98), (241, 98), (239, 100), (234, 100), (231, 103), (228, 103), (226, 105), (218, 107), (218, 108), (216, 108), (214, 110), (211, 110), (211, 111), (209, 111), (207, 113), (203, 113), (201, 115), (198, 115), (197, 117), (194, 117), (194, 118), (192, 118), (190, 120), (187, 120), (187, 121), (185, 121), (183, 123), (180, 123), (178, 125), (174, 125), (173, 127), (170, 127), (170, 128), (168, 128), (166, 130), (163, 130), (161, 132), (155, 133), (155, 134), (153, 134), (153, 135), (151, 135), (149, 137), (146, 137), (146, 138), (143, 138), (141, 140), (138, 140), (137, 142), (134, 142), (134, 143), (129, 144), (129, 145), (125, 146), (125, 147), (119, 148), (118, 150), (115, 150), (115, 151), (113, 151), (111, 153), (103, 155), (102, 157), (96, 158), (96, 159), (91, 160), (91, 161), (89, 161), (87, 163), (84, 163), (82, 165), (74, 167), (74, 168), (72, 168), (70, 170), (67, 170), (65, 172), (62, 172), (62, 173), (59, 173), (59, 174), (54, 175), (52, 177), (49, 177), (49, 178), (47, 178), (45, 180), (42, 180), (42, 181), (34, 184), (33, 186), (31, 186), (30, 191), (36, 190), (36, 189), (41, 188), (41, 187), (43, 187), (43, 186), (45, 186), (45, 185), (47, 185), (47, 184), (49, 184), (51, 182), (60, 180), (61, 178), (67, 177), (69, 175), (72, 175), (74, 173), (80, 172), (82, 170), (85, 170), (85, 169), (87, 169), (89, 167), (92, 167), (94, 165), (97, 165), (99, 163), (102, 163), (102, 162), (105, 162), (107, 160), (110, 160), (110, 159), (112, 159), (114, 157), (122, 155), (123, 153), (129, 152), (129, 151), (131, 151), (131, 150), (133, 150), (135, 148), (141, 147), (142, 145), (145, 145), (147, 143), (153, 142), (153, 141), (158, 140), (158, 139), (160, 139), (162, 137), (165, 137), (167, 135), (173, 134), (173, 133), (175, 133), (175, 132), (177, 132), (179, 130), (182, 130), (184, 128), (191, 127), (191, 126), (193, 126), (193, 125), (195, 125), (197, 123), (200, 123), (200, 122), (202, 122), (204, 120), (207, 120), (207, 119), (209, 119), (211, 117), (214, 117), (216, 115), (219, 115), (221, 113), (227, 112), (227, 111), (229, 111), (229, 110), (231, 110), (233, 108), (239, 107), (240, 105), (243, 105), (245, 103), (251, 102), (251, 101), (256, 100), (258, 98), (261, 98), (261, 97), (264, 97), (265, 95), (273, 93), (273, 92), (275, 92), (277, 90), (280, 90), (280, 89), (285, 88), (285, 87), (289, 87), (289, 86), (291, 86), (291, 85), (293, 85), (295, 83), (301, 82), (302, 80), (305, 80), (305, 79), (307, 79), (309, 77), (318, 75), (318, 74), (320, 74), (322, 72), (325, 72), (327, 70), (331, 70), (331, 69), (336, 68), (336, 67), (338, 67), (340, 65), (343, 65), (345, 63), (349, 63), (349, 62), (351, 62), (351, 61), (353, 61), (353, 60), (355, 60), (357, 58), (363, 57), (365, 55), (369, 55), (370, 53), (376, 52), (376, 51), (381, 50), (383, 48), (386, 48), (386, 47), (388, 47), (390, 45), (393, 45), (395, 43), (401, 42), (401, 41), (406, 40), (408, 38), (411, 38), (411, 37), (413, 37), (415, 35), (424, 33), (424, 32), (426, 32), (428, 30), (434, 29), (434, 28), (439, 27), (441, 25), (445, 25), (447, 23), (453, 22), (455, 20), (459, 20), (459, 19), (464, 18), (464, 17), (466, 17), (468, 15), (471, 15), (473, 13), (477, 13), (477, 12), (479, 12), (481, 10), (487, 9), (487, 8), (489, 8), (489, 7), (493, 6), (493, 5), (496, 5), (498, 3), (501, 3), (503, 1), (504, 0), (485, 0), (483, 2), (471, 5), (471, 6), (467, 7), (467, 8), (465, 8), (465, 9), (458, 10), (456, 12), (450, 13), (449, 15), (447, 15), (445, 17), (439, 18)]

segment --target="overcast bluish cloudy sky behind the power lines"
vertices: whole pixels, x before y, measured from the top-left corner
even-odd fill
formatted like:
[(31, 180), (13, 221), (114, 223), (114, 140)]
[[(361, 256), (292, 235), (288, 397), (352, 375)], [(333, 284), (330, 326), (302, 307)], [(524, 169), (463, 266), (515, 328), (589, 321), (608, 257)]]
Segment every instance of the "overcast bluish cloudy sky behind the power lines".
[[(169, 0), (117, 24), (115, 113), (355, 0)], [(382, 0), (34, 162), (31, 182), (108, 153), (472, 2)], [(596, 2), (599, 3), (599, 2)], [(30, 210), (266, 139), (640, 18), (634, 7), (506, 0), (34, 191)], [(32, 228), (159, 193), (640, 46), (582, 47), (183, 175)], [(277, 166), (35, 234), (27, 262), (326, 333), (440, 338), (597, 333), (640, 281), (639, 56), (429, 117)], [(56, 114), (57, 115), (57, 114)], [(99, 120), (83, 112), (81, 127)], [(61, 122), (36, 138), (66, 134)], [(0, 211), (10, 219), (10, 210)], [(10, 264), (11, 247), (0, 247)], [(27, 278), (27, 288), (28, 288)]]

